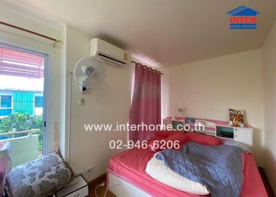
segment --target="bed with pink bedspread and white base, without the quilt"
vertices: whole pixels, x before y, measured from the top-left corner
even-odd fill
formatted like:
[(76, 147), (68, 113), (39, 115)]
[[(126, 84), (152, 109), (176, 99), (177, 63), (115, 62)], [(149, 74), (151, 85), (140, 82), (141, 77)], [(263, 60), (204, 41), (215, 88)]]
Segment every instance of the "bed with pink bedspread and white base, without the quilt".
[[(119, 197), (197, 196), (164, 185), (146, 174), (147, 163), (154, 154), (150, 149), (133, 148), (112, 156), (107, 169), (107, 183), (110, 191)], [(240, 196), (267, 196), (253, 154), (243, 154), (243, 175), (244, 181)]]

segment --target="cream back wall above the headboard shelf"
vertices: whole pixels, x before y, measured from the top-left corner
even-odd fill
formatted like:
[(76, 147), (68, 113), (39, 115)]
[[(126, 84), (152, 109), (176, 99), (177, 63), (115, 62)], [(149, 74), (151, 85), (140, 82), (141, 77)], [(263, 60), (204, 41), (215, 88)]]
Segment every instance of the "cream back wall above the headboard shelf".
[(163, 113), (228, 121), (228, 109), (246, 110), (254, 127), (253, 151), (263, 165), (264, 87), (262, 50), (251, 50), (213, 59), (164, 68)]

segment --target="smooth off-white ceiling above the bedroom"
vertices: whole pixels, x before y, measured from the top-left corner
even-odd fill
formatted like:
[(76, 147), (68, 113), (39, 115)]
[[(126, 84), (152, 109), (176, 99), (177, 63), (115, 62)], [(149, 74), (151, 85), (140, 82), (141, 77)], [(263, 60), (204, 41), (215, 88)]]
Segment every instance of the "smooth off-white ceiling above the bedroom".
[[(171, 66), (262, 47), (276, 19), (275, 0), (17, 0), (131, 52)], [(259, 12), (257, 30), (230, 30), (226, 12)]]

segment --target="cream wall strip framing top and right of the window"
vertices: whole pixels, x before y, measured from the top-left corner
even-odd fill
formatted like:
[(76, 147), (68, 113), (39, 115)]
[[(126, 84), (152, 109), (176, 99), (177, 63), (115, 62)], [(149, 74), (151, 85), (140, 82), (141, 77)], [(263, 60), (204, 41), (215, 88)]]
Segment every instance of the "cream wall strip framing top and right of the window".
[[(61, 25), (41, 19), (30, 13), (17, 10), (9, 6), (0, 6), (0, 21), (18, 25), (56, 39), (61, 39)], [(53, 48), (52, 41), (34, 36), (32, 34), (14, 30), (0, 25), (0, 41), (17, 45), (21, 48), (48, 54), (49, 68), (49, 94), (48, 96), (48, 151), (55, 148), (55, 130), (59, 129), (61, 114), (61, 52), (60, 48)], [(55, 127), (57, 125), (57, 129)], [(59, 132), (59, 130), (57, 130)]]

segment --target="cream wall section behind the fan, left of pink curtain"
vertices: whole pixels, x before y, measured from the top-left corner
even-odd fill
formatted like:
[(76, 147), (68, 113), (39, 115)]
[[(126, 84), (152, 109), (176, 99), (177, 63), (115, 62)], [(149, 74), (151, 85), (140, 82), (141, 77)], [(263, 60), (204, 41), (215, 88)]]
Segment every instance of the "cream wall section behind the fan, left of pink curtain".
[[(89, 55), (89, 41), (92, 39), (75, 28), (66, 28), (66, 70), (72, 71), (79, 59)], [(118, 68), (108, 65), (106, 79), (86, 94), (80, 94), (77, 83), (72, 81), (71, 132), (70, 132), (70, 165), (75, 172), (81, 172), (90, 165), (94, 171), (89, 179), (106, 172), (110, 156), (119, 152), (110, 149), (110, 140), (126, 142), (126, 132), (86, 132), (84, 124), (127, 123), (130, 109), (131, 90), (130, 67)], [(66, 81), (66, 101), (68, 101), (68, 85)], [(79, 105), (84, 98), (85, 105)], [(67, 106), (69, 103), (67, 103)], [(68, 113), (68, 107), (66, 107)], [(68, 127), (66, 128), (68, 130)], [(87, 177), (88, 178), (88, 177)]]

